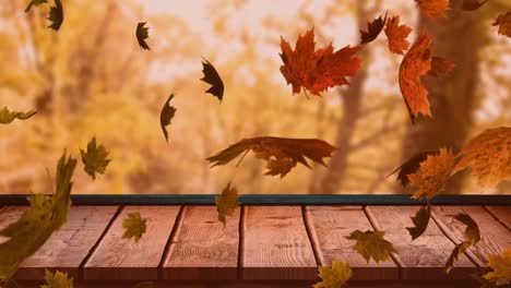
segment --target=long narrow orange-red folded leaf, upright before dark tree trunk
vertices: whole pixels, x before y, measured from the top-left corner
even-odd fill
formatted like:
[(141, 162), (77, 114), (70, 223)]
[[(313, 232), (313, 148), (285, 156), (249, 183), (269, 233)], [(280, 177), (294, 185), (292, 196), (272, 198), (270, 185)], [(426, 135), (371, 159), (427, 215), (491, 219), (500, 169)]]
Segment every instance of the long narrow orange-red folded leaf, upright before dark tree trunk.
[(431, 116), (428, 91), (420, 82), (420, 76), (431, 70), (430, 43), (431, 35), (426, 32), (421, 33), (403, 58), (400, 67), (400, 88), (412, 122), (414, 117), (419, 113)]

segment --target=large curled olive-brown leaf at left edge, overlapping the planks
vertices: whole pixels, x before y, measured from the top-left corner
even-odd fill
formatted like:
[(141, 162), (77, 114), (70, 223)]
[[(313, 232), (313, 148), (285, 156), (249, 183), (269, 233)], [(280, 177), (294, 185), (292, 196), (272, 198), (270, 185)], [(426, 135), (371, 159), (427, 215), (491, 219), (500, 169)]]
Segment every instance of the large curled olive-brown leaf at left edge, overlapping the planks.
[(9, 279), (17, 266), (34, 254), (68, 220), (71, 178), (76, 160), (67, 158), (66, 152), (57, 164), (54, 195), (33, 194), (27, 197), (29, 207), (20, 219), (0, 230), (9, 238), (0, 243), (0, 279)]

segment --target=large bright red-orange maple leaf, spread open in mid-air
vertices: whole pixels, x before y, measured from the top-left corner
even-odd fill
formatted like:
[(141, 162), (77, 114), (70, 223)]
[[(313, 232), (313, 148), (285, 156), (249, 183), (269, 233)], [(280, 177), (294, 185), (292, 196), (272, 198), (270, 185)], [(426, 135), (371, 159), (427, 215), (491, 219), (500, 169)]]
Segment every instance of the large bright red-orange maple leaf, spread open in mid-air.
[(281, 73), (287, 84), (292, 84), (293, 94), (301, 87), (313, 95), (337, 85), (348, 85), (346, 76), (354, 76), (360, 69), (361, 59), (354, 57), (364, 46), (346, 46), (334, 52), (332, 44), (316, 50), (314, 31), (299, 36), (295, 50), (281, 37)]

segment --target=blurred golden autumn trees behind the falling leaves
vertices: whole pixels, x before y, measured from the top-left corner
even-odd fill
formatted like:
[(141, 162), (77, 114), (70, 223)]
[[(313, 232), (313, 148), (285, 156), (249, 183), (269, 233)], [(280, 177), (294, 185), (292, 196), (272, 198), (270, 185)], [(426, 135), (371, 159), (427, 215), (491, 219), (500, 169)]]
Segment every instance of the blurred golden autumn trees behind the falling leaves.
[[(219, 193), (235, 163), (210, 169), (205, 158), (262, 135), (317, 137), (340, 149), (328, 167), (299, 165), (284, 179), (263, 176), (264, 161), (249, 154), (233, 181), (240, 193), (402, 193), (387, 176), (412, 155), (459, 152), (483, 130), (511, 125), (511, 39), (491, 26), (511, 10), (508, 0), (436, 21), (412, 0), (63, 0), (58, 33), (46, 28), (49, 5), (25, 13), (28, 0), (1, 2), (0, 107), (38, 113), (0, 127), (0, 193), (52, 191), (62, 151), (80, 158), (93, 135), (112, 161), (96, 181), (79, 163), (73, 193)], [(456, 64), (444, 77), (424, 77), (435, 118), (412, 125), (397, 84), (403, 57), (383, 33), (358, 55), (364, 67), (350, 86), (292, 95), (280, 72), (281, 36), (294, 47), (313, 26), (317, 46), (338, 49), (357, 45), (358, 31), (385, 12), (414, 28), (412, 43), (427, 29), (433, 55)], [(134, 36), (145, 21), (151, 51)], [(201, 57), (224, 80), (222, 104), (204, 93)], [(159, 111), (170, 93), (177, 113), (167, 145)], [(509, 183), (482, 190), (457, 178), (450, 193), (511, 193)]]

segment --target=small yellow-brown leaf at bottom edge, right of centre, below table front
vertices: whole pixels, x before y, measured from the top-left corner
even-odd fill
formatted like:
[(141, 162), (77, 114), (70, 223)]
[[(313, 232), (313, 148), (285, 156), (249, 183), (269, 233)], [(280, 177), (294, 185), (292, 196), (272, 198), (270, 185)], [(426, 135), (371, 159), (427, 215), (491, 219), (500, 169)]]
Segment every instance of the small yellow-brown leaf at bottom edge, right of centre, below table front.
[(314, 284), (314, 288), (341, 288), (353, 276), (349, 263), (333, 261), (332, 267), (318, 267), (318, 276), (322, 279)]

